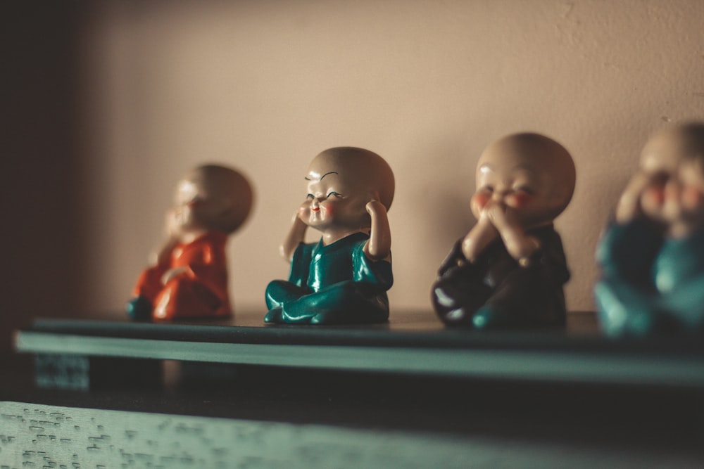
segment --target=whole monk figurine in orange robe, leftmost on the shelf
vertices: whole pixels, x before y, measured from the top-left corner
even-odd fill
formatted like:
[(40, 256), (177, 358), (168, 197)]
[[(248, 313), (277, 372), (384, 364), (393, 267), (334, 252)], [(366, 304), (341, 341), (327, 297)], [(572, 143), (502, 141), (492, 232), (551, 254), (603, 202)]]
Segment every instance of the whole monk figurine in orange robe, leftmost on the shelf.
[(168, 212), (167, 240), (127, 303), (132, 319), (232, 316), (225, 244), (249, 215), (252, 198), (249, 181), (228, 167), (203, 165), (184, 176)]

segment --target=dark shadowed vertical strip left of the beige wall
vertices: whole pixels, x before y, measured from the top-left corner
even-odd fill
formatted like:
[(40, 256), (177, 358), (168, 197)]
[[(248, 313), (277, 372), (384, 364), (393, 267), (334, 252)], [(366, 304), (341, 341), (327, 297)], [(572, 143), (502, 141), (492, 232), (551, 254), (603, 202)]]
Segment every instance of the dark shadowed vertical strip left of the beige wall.
[(0, 350), (37, 316), (70, 316), (80, 295), (82, 2), (4, 5)]

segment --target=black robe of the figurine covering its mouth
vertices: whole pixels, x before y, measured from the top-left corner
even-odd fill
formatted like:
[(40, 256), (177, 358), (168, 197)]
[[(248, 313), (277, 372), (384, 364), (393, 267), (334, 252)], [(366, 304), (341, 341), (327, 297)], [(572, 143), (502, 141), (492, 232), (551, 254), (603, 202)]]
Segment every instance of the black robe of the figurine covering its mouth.
[[(528, 231), (539, 240), (521, 266), (496, 239), (474, 262), (453, 246), (433, 285), (433, 307), (448, 326), (564, 327), (565, 294), (570, 279), (560, 236), (553, 226)], [(494, 324), (485, 321), (494, 321)]]

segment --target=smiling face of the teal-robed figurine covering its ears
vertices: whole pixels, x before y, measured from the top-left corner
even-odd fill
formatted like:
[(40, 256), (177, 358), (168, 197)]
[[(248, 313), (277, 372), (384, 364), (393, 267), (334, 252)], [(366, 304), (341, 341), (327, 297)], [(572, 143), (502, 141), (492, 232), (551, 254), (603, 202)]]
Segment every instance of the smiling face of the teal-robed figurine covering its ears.
[(361, 168), (344, 165), (321, 153), (308, 168), (306, 201), (299, 217), (319, 231), (364, 231), (370, 226), (365, 205), (373, 194), (365, 188)]

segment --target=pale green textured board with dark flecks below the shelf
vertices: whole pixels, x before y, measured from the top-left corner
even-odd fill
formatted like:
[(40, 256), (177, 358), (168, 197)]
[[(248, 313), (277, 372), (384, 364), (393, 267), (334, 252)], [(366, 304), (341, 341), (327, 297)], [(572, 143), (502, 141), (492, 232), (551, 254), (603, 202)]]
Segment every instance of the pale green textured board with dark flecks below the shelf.
[(696, 454), (0, 402), (0, 468), (700, 468)]

